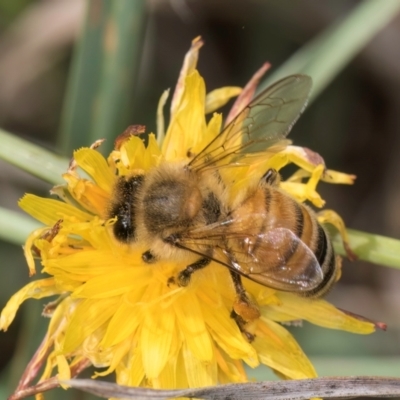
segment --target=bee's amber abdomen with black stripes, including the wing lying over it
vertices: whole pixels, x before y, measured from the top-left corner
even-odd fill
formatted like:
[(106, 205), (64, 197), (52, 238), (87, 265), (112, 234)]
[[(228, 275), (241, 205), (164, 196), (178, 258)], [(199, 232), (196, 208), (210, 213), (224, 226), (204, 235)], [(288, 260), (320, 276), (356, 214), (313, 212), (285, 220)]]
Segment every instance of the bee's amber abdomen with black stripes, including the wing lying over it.
[[(233, 212), (228, 257), (250, 279), (302, 296), (321, 296), (336, 281), (332, 244), (314, 212), (261, 184)], [(235, 237), (234, 232), (239, 233)]]

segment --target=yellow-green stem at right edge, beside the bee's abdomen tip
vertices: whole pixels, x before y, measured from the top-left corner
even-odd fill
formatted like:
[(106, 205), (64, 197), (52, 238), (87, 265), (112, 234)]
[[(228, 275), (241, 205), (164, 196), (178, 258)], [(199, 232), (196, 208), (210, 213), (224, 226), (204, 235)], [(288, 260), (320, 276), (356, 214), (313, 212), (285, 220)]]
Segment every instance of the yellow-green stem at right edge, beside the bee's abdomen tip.
[[(400, 269), (400, 240), (353, 229), (347, 232), (350, 247), (361, 260)], [(339, 235), (333, 237), (333, 244), (338, 254), (346, 255)]]

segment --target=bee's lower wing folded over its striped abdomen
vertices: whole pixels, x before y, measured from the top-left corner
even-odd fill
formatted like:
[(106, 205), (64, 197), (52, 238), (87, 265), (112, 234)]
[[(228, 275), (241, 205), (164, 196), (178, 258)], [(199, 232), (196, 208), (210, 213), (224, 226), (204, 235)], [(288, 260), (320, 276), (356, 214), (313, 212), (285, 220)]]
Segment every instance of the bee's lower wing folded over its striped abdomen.
[(227, 233), (215, 224), (203, 233), (197, 230), (195, 237), (181, 238), (179, 246), (208, 258), (201, 249), (212, 247), (214, 261), (278, 290), (307, 292), (323, 281), (315, 254), (290, 229), (276, 227), (252, 235)]

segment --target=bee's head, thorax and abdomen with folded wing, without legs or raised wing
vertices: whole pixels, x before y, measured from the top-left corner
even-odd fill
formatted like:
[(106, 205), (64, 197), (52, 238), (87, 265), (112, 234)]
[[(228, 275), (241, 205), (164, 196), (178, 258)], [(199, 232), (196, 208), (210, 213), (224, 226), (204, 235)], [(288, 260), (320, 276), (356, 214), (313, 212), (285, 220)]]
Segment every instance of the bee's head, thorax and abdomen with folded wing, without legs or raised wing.
[[(273, 175), (247, 188), (239, 202), (228, 201), (215, 174), (198, 174), (182, 163), (160, 165), (146, 177), (118, 178), (109, 211), (118, 218), (113, 234), (123, 243), (146, 244), (144, 259), (149, 263), (190, 263), (202, 254), (266, 286), (321, 296), (337, 275), (332, 244), (315, 213), (282, 192)], [(187, 249), (188, 242), (195, 245)], [(282, 286), (271, 275), (285, 264), (296, 267)], [(303, 278), (297, 265), (302, 265), (302, 274), (320, 267), (319, 284), (309, 285), (304, 277), (303, 284), (291, 286), (293, 274)]]

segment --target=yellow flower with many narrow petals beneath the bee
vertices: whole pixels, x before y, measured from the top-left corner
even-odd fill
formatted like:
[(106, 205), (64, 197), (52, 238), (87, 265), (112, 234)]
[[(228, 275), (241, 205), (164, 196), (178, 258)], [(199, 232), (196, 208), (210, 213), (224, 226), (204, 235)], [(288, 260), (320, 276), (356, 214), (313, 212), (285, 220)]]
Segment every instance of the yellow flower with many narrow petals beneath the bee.
[[(48, 277), (29, 283), (10, 299), (0, 328), (8, 328), (26, 299), (60, 296), (45, 308), (51, 319), (35, 356), (39, 362), (48, 354), (40, 381), (54, 374), (68, 379), (88, 361), (106, 368), (96, 376), (115, 371), (120, 384), (153, 388), (246, 382), (245, 364), (253, 368), (265, 364), (286, 378), (310, 378), (316, 376), (314, 367), (281, 322), (304, 319), (355, 333), (374, 331), (372, 323), (322, 299), (301, 298), (244, 279), (261, 313), (249, 327), (255, 335), (249, 342), (230, 317), (236, 293), (226, 267), (213, 262), (194, 274), (187, 287), (168, 285), (168, 279), (185, 265), (166, 259), (149, 266), (142, 261), (147, 250), (142, 243), (121, 244), (112, 236), (115, 218), (108, 219), (107, 210), (117, 176), (146, 174), (161, 161), (184, 160), (188, 152), (204, 148), (222, 125), (220, 114), (207, 121), (205, 113), (240, 92), (231, 87), (206, 95), (204, 80), (196, 70), (200, 47), (201, 41), (195, 40), (185, 58), (162, 143), (153, 134), (146, 146), (138, 135), (125, 135), (108, 159), (96, 151), (100, 143), (77, 150), (63, 176), (66, 185), (53, 189), (63, 201), (29, 194), (20, 201), (27, 213), (44, 224), (25, 245), (30, 273), (35, 273), (35, 258), (39, 258), (41, 272)], [(165, 100), (163, 95), (159, 138), (164, 137), (160, 110)], [(141, 127), (132, 129), (141, 131)], [(239, 167), (235, 185), (246, 184), (250, 170), (279, 170), (288, 163), (298, 165), (299, 171), (281, 182), (281, 189), (316, 206), (323, 204), (316, 192), (320, 180), (353, 180), (326, 170), (315, 153), (287, 146)], [(325, 213), (325, 222), (345, 234), (340, 217), (332, 215)]]

